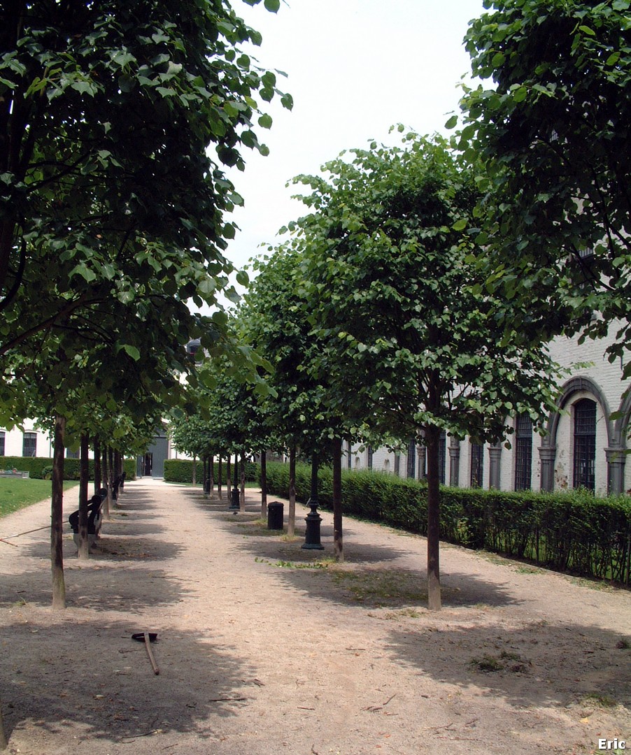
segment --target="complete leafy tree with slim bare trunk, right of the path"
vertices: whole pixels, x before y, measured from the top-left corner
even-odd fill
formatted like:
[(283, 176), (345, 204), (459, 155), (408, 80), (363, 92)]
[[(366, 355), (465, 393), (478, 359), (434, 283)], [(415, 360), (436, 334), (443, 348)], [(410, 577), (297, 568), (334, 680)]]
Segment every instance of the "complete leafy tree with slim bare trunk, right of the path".
[(372, 143), (324, 170), (296, 179), (311, 188), (298, 237), (323, 344), (317, 374), (328, 378), (330, 411), (427, 448), (428, 604), (439, 609), (441, 430), (502, 438), (507, 414), (552, 405), (553, 365), (496, 319), (503, 308), (487, 294), (469, 230), (475, 170), (444, 139)]

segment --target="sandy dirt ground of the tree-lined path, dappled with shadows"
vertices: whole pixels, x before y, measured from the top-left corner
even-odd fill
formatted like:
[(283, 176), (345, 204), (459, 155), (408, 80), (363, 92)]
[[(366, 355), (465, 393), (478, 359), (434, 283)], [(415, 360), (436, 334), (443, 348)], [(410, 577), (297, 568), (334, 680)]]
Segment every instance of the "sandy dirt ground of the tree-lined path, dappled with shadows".
[[(234, 514), (128, 482), (89, 562), (66, 536), (63, 612), (48, 532), (12, 537), (45, 527), (49, 504), (0, 520), (17, 545), (0, 542), (9, 753), (631, 749), (631, 592), (445, 545), (444, 609), (428, 612), (423, 538), (346, 519), (336, 565), (328, 513), (325, 550), (304, 550), (257, 521), (259, 500)], [(144, 630), (158, 675), (131, 639)]]

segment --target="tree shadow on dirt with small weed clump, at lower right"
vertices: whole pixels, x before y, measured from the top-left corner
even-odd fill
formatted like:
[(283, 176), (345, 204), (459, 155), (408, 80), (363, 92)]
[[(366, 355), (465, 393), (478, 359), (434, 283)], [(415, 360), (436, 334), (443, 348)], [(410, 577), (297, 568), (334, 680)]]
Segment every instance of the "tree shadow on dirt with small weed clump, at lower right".
[(388, 649), (397, 663), (438, 682), (476, 686), (515, 707), (620, 704), (629, 720), (631, 658), (619, 634), (580, 623), (506, 627), (490, 619), (487, 609), (477, 617), (426, 612), (391, 630)]

